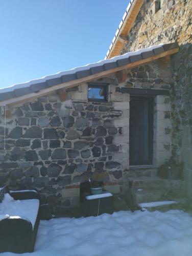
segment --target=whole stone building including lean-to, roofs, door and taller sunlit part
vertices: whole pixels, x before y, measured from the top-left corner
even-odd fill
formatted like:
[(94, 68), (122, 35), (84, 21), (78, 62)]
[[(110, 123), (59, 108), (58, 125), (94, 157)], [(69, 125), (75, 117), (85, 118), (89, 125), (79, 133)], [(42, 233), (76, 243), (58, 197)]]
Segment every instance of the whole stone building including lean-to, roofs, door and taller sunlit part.
[(134, 0), (105, 60), (0, 90), (0, 185), (57, 212), (89, 178), (116, 209), (191, 195), (191, 49), (191, 1)]

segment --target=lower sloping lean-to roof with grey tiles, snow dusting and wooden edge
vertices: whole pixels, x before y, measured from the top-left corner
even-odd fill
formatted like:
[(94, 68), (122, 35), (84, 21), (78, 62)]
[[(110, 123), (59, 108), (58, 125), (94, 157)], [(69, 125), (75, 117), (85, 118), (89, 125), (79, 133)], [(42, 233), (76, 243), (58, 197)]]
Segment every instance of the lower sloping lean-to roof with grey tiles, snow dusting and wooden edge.
[[(174, 50), (175, 49), (175, 50)], [(50, 91), (73, 87), (78, 83), (101, 78), (125, 68), (141, 65), (142, 63), (173, 54), (178, 51), (178, 45), (161, 44), (111, 59), (101, 60), (83, 67), (62, 71), (54, 75), (34, 79), (26, 83), (14, 84), (0, 90), (0, 105), (9, 104), (22, 99), (37, 97)], [(12, 100), (14, 99), (14, 100)]]

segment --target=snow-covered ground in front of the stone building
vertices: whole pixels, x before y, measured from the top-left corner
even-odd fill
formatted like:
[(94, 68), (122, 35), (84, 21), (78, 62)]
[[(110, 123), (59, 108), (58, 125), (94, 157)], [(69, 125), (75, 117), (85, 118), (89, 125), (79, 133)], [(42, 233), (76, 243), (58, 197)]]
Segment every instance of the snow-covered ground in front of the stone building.
[(181, 210), (119, 211), (41, 221), (35, 251), (22, 255), (190, 256), (192, 216)]

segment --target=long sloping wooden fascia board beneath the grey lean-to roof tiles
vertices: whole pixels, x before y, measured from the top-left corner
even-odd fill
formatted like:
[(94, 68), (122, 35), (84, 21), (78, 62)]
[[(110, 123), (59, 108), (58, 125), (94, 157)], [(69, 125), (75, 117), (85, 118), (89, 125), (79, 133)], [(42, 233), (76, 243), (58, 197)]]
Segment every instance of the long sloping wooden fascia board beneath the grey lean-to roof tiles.
[(107, 75), (116, 73), (116, 72), (118, 72), (120, 70), (132, 69), (134, 67), (137, 67), (137, 66), (143, 65), (145, 63), (148, 63), (148, 62), (157, 60), (159, 58), (165, 57), (167, 55), (171, 55), (171, 54), (177, 53), (178, 51), (179, 51), (179, 48), (174, 48), (172, 50), (162, 52), (160, 54), (151, 56), (149, 58), (140, 59), (138, 61), (131, 62), (131, 63), (126, 64), (126, 65), (121, 66), (121, 67), (117, 67), (117, 68), (110, 69), (110, 70), (105, 70), (105, 71), (102, 71), (100, 73), (96, 73), (96, 74), (89, 75), (89, 76), (86, 76), (86, 77), (82, 77), (82, 78), (79, 78), (79, 79), (71, 80), (71, 81), (68, 81), (68, 82), (59, 83), (59, 84), (56, 84), (55, 86), (52, 86), (52, 87), (49, 87), (49, 88), (45, 88), (45, 89), (40, 90), (40, 91), (38, 91), (36, 93), (29, 93), (29, 94), (26, 94), (26, 95), (22, 95), (20, 97), (15, 97), (15, 98), (7, 99), (7, 100), (4, 100), (4, 101), (1, 101), (0, 105), (15, 104), (16, 102), (27, 101), (29, 99), (31, 100), (32, 98), (37, 98), (37, 97), (40, 97), (40, 96), (43, 96), (43, 95), (47, 95), (47, 94), (49, 94), (49, 93), (51, 93), (53, 91), (59, 90), (59, 89), (72, 88), (72, 87), (77, 86), (80, 83), (89, 82), (89, 81), (92, 81), (94, 79), (99, 79), (99, 78), (105, 77)]

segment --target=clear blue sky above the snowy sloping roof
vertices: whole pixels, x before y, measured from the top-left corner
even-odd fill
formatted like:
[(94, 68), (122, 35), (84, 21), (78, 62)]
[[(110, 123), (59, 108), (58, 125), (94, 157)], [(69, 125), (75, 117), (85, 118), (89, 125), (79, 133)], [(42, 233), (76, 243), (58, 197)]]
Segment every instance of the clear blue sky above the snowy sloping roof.
[(0, 88), (103, 59), (128, 0), (0, 0)]

